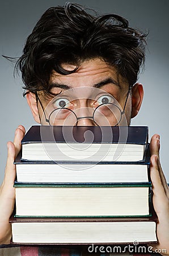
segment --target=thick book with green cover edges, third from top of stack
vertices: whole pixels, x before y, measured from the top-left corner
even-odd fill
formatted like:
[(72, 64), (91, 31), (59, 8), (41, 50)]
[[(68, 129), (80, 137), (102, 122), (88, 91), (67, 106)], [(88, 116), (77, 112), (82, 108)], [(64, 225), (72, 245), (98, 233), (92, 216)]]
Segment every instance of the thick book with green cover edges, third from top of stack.
[(28, 184), (15, 187), (16, 217), (150, 216), (151, 183)]

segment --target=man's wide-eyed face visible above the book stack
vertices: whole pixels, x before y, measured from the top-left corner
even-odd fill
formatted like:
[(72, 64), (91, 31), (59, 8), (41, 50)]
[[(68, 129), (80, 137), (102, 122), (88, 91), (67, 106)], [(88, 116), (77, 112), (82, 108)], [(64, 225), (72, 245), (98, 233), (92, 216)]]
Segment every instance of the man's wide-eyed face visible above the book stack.
[[(62, 67), (66, 70), (73, 70), (75, 68), (73, 65), (69, 64), (64, 64)], [(61, 75), (53, 72), (50, 77), (50, 84), (52, 85), (51, 92), (58, 94), (54, 99), (45, 97), (43, 92), (39, 92), (38, 94), (47, 119), (52, 117), (50, 113), (53, 111), (53, 105), (55, 109), (64, 106), (73, 110), (75, 115), (77, 115), (77, 125), (79, 126), (96, 125), (94, 120), (90, 117), (94, 113), (94, 110), (100, 104), (103, 104), (104, 100), (110, 102), (110, 104), (107, 105), (108, 108), (115, 104), (118, 105), (118, 108), (121, 109), (122, 112), (129, 89), (128, 82), (124, 81), (124, 79), (117, 74), (116, 69), (100, 59), (84, 61), (78, 70), (70, 75)], [(54, 102), (54, 104), (51, 102)], [(131, 95), (129, 94), (125, 106), (125, 115), (122, 115), (119, 125), (129, 125), (132, 111), (131, 102)], [(39, 102), (37, 106), (41, 124), (49, 125), (49, 123), (45, 121), (43, 109)], [(104, 110), (103, 113), (106, 113), (106, 111)], [(56, 112), (53, 112), (53, 114), (56, 115)], [(58, 117), (59, 114), (57, 114), (56, 119)], [(64, 114), (62, 114), (62, 117), (64, 117)], [(69, 117), (69, 119), (73, 119), (71, 115), (69, 115)], [(98, 118), (98, 115), (96, 114), (95, 117)], [(100, 117), (100, 120), (101, 118), (102, 117)], [(110, 120), (109, 117), (107, 120)], [(109, 124), (113, 126), (113, 123)], [(58, 118), (57, 121), (54, 121), (54, 125), (64, 125), (64, 123)], [(108, 125), (108, 123), (105, 122), (103, 125)]]

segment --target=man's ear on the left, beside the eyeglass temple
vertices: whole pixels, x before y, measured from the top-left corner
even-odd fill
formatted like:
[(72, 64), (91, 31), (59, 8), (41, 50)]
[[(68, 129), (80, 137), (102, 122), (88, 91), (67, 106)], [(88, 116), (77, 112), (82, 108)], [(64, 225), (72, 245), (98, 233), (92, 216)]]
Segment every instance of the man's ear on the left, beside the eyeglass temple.
[(27, 102), (28, 102), (29, 108), (31, 109), (33, 118), (35, 119), (35, 121), (37, 123), (40, 123), (39, 111), (37, 109), (37, 102), (36, 102), (36, 95), (35, 95), (35, 93), (28, 92), (26, 94), (26, 98), (27, 98)]

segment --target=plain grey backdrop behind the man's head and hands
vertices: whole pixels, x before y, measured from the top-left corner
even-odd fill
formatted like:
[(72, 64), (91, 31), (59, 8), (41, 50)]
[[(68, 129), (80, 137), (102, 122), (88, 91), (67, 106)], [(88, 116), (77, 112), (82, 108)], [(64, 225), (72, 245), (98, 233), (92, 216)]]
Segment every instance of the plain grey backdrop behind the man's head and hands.
[[(145, 89), (142, 108), (132, 125), (149, 126), (150, 137), (161, 137), (160, 158), (169, 181), (168, 170), (168, 0), (77, 0), (77, 3), (94, 8), (99, 13), (116, 13), (124, 16), (130, 26), (149, 30), (146, 69), (139, 81)], [(27, 36), (41, 14), (50, 6), (64, 5), (65, 1), (28, 0), (1, 1), (0, 6), (0, 55), (20, 56)], [(14, 64), (0, 56), (1, 72), (1, 132), (0, 132), (0, 183), (3, 179), (7, 141), (14, 138), (15, 128), (22, 124), (28, 129), (33, 121), (26, 99), (23, 98), (22, 81), (13, 77)]]

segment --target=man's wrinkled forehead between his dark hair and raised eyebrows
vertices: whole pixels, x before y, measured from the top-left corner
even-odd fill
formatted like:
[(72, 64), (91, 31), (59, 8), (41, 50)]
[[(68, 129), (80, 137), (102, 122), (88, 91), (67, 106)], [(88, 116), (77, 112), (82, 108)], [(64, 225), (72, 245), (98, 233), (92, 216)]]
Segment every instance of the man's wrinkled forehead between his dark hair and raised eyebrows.
[[(71, 64), (62, 64), (62, 68), (67, 71), (73, 71), (76, 66)], [(124, 79), (117, 73), (117, 69), (104, 60), (98, 58), (86, 60), (79, 65), (77, 71), (69, 75), (61, 75), (53, 71), (50, 77), (50, 84), (64, 84), (68, 86), (94, 86), (103, 80), (114, 81), (115, 85), (124, 85)], [(125, 85), (124, 85), (125, 86)], [(123, 86), (122, 86), (123, 87)]]

